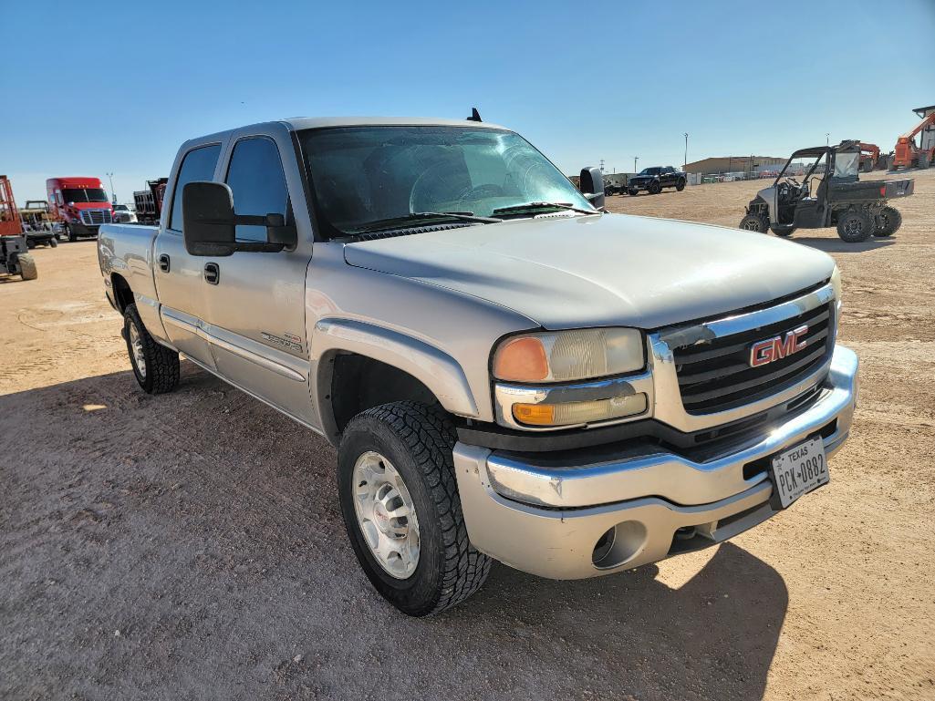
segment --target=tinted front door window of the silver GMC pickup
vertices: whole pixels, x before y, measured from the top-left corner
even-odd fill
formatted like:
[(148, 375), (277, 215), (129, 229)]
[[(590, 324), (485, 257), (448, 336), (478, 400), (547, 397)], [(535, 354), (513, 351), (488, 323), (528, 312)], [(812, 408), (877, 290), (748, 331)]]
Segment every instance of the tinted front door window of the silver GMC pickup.
[[(237, 214), (287, 217), (289, 190), (280, 152), (272, 139), (252, 137), (237, 141), (227, 169), (227, 184), (234, 194)], [(266, 226), (238, 224), (237, 240), (266, 241)]]

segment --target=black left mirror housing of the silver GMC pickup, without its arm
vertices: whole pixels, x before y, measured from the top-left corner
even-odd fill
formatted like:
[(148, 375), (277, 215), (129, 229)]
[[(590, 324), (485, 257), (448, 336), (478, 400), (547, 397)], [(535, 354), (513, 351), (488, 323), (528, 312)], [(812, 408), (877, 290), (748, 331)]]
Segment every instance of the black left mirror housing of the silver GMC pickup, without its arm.
[(181, 194), (185, 250), (192, 255), (228, 256), (236, 249), (234, 193), (223, 182), (189, 182)]

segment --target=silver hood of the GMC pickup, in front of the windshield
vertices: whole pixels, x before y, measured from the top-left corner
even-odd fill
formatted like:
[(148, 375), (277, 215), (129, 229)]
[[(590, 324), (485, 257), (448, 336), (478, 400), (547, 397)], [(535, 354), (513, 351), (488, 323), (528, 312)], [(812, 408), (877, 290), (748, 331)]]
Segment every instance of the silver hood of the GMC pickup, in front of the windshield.
[(772, 236), (614, 214), (362, 241), (346, 245), (344, 258), (480, 297), (548, 329), (692, 321), (796, 293), (834, 269), (827, 254)]

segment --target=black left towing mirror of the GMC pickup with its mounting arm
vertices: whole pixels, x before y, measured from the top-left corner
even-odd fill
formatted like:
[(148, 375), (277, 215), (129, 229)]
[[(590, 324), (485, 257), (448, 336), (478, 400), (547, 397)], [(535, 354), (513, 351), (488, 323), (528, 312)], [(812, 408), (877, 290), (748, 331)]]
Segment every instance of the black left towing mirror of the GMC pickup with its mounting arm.
[[(281, 214), (238, 215), (223, 182), (189, 182), (182, 189), (182, 231), (192, 255), (228, 256), (237, 250), (276, 253), (295, 246), (295, 226)], [(237, 241), (237, 224), (266, 226), (266, 242)]]

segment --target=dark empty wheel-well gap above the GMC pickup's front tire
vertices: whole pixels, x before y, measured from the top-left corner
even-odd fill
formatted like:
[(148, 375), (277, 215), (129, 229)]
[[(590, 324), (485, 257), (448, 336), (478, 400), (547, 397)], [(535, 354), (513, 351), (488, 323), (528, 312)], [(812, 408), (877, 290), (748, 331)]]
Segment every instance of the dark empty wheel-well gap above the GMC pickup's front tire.
[(393, 365), (356, 353), (340, 353), (333, 363), (329, 391), (338, 433), (361, 411), (381, 404), (403, 400), (439, 404), (420, 380)]

